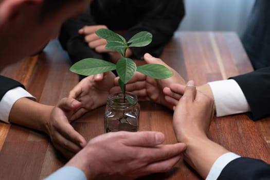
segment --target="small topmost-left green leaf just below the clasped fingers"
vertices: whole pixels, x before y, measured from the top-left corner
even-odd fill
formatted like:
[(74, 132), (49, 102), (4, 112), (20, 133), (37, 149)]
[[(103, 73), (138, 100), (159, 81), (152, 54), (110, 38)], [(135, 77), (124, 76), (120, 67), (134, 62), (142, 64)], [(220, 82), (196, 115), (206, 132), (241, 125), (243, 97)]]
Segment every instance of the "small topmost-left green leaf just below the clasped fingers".
[(107, 40), (107, 42), (118, 42), (122, 45), (127, 44), (127, 41), (125, 41), (125, 39), (121, 35), (115, 33), (110, 29), (98, 29), (96, 30), (96, 34), (100, 38)]

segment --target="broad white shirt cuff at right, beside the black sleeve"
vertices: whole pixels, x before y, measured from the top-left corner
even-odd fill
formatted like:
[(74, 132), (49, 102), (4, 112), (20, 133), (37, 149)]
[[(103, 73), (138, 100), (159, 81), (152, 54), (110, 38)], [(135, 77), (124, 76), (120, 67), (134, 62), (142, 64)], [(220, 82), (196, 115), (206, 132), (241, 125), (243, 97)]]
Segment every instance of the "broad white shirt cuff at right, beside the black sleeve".
[(233, 79), (208, 83), (213, 96), (217, 117), (250, 111), (242, 89)]

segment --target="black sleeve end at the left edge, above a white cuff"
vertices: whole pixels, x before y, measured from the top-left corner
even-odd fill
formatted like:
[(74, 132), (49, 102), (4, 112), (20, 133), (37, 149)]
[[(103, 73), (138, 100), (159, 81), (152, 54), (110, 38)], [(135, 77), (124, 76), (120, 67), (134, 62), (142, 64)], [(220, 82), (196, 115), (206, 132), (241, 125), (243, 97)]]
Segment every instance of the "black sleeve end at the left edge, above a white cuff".
[(0, 76), (0, 84), (1, 84), (0, 85), (0, 100), (10, 89), (13, 89), (19, 86), (25, 88), (24, 85), (21, 84), (20, 82), (4, 77), (4, 76)]

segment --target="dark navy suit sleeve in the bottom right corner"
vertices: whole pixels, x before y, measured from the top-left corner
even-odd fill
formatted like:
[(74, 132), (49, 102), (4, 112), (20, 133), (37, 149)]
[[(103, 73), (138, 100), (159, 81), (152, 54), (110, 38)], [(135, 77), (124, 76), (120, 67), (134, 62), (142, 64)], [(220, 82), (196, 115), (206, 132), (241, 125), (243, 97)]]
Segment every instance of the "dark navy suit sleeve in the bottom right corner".
[(270, 165), (259, 159), (240, 157), (230, 161), (218, 179), (270, 179)]

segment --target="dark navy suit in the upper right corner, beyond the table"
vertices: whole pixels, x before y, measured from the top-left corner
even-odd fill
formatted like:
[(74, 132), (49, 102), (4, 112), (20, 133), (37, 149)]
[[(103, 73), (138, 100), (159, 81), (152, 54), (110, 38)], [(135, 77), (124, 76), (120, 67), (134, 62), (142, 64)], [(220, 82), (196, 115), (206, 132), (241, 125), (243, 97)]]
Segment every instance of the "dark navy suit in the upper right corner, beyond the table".
[(270, 66), (270, 1), (256, 0), (241, 38), (254, 69)]

